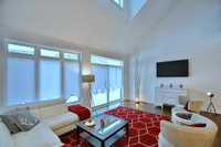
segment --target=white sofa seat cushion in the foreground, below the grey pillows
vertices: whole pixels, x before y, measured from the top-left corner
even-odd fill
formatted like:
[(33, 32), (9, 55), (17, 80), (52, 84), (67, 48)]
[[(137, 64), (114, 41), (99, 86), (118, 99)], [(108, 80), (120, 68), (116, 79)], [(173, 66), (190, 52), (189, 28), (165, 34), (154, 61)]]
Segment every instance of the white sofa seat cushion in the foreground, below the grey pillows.
[(61, 145), (59, 137), (49, 127), (42, 127), (42, 124), (35, 127), (30, 132), (12, 135), (14, 147), (51, 147), (57, 144)]

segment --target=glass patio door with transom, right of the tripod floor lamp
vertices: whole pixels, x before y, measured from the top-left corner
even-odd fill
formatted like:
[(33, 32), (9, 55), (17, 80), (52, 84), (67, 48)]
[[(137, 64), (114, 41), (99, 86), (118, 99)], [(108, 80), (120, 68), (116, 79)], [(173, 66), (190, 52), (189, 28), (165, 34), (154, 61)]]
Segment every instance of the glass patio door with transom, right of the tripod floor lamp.
[(98, 106), (123, 97), (123, 67), (120, 60), (92, 55), (92, 74), (95, 82), (92, 83), (92, 96), (94, 104)]

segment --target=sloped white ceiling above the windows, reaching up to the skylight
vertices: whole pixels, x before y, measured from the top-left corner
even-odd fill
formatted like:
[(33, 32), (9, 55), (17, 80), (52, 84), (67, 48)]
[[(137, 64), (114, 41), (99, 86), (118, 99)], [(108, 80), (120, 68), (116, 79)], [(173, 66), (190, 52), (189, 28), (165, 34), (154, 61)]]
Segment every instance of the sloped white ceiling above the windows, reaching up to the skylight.
[(0, 25), (126, 55), (177, 2), (148, 0), (124, 23), (93, 0), (0, 0)]

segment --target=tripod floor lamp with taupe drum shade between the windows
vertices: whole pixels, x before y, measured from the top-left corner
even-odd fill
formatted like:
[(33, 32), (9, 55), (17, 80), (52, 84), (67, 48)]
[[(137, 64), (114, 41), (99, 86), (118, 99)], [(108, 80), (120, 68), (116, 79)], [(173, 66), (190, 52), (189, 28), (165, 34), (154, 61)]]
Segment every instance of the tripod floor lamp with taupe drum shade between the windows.
[[(88, 88), (87, 88), (87, 91), (86, 91), (86, 95), (85, 95), (85, 97), (86, 97), (86, 99), (85, 99), (85, 103), (87, 102), (87, 99), (92, 99), (92, 102), (93, 102), (93, 104), (95, 105), (95, 103), (94, 103), (94, 99), (93, 99), (93, 97), (92, 97), (92, 92), (91, 92), (91, 83), (92, 82), (95, 82), (95, 76), (94, 75), (83, 75), (83, 77), (82, 77), (82, 82), (83, 83), (88, 83)], [(90, 94), (90, 98), (87, 98), (87, 95)], [(84, 104), (85, 104), (84, 103)], [(91, 102), (90, 102), (91, 103)], [(90, 106), (91, 106), (91, 104), (90, 104)], [(96, 114), (96, 109), (94, 111), (95, 112), (95, 114)]]

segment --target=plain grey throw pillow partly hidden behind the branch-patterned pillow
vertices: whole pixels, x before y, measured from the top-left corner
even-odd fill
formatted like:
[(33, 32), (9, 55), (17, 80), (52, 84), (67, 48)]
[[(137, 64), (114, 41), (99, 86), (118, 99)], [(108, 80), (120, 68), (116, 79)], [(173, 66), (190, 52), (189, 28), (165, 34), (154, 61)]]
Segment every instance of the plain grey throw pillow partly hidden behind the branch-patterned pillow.
[(17, 114), (18, 112), (20, 112), (19, 108), (15, 108), (9, 113), (6, 113), (3, 115), (0, 115), (2, 122), (8, 126), (8, 128), (11, 130), (11, 133), (15, 134), (19, 133), (21, 129), (19, 128), (19, 126), (17, 125), (17, 123), (14, 122), (14, 119), (11, 117), (12, 114)]

